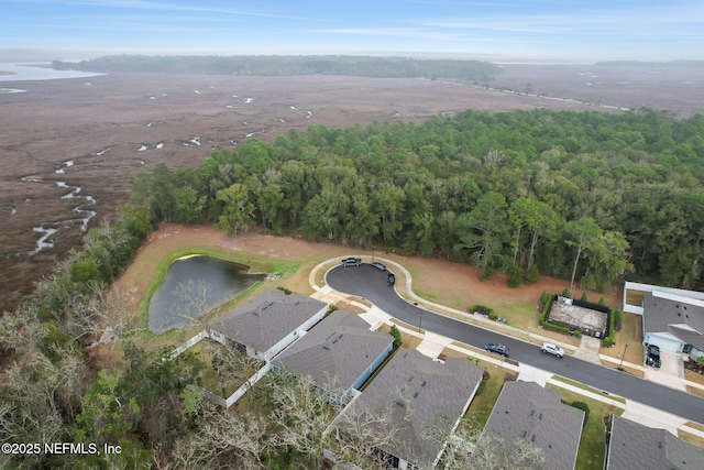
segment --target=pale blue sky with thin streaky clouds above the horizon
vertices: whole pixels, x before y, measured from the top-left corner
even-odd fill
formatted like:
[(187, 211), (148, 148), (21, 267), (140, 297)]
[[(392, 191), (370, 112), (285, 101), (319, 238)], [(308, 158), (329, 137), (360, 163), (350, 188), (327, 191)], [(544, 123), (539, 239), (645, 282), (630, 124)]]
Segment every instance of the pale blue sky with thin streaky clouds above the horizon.
[(704, 1), (0, 0), (0, 50), (704, 59)]

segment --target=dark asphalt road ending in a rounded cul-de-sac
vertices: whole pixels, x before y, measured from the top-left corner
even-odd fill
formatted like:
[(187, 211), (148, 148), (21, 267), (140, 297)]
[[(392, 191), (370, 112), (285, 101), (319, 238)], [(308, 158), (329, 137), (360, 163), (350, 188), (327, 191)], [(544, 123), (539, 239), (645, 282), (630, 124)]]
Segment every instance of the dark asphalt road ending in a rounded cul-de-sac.
[(396, 291), (387, 285), (386, 273), (370, 264), (334, 267), (328, 272), (326, 280), (336, 291), (364, 297), (387, 314), (419, 329), (477, 348), (484, 348), (487, 342), (501, 342), (509, 348), (513, 360), (686, 419), (704, 423), (703, 398), (569, 356), (558, 359), (542, 353), (536, 345), (419, 308), (400, 298)]

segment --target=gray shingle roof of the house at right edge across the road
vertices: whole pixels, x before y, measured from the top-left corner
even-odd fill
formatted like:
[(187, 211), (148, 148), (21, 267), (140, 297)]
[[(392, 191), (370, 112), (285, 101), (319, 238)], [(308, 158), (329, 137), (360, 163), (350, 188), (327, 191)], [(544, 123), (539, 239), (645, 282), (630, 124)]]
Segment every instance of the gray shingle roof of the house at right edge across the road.
[[(645, 334), (668, 331), (683, 342), (704, 350), (704, 308), (680, 300), (644, 295)], [(686, 325), (679, 328), (676, 325)]]

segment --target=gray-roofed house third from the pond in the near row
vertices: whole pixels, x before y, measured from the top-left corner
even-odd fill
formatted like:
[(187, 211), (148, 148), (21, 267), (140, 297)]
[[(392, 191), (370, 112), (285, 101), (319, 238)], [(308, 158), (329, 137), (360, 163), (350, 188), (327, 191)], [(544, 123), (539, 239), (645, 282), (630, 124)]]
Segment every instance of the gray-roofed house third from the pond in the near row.
[[(428, 437), (439, 426), (450, 436), (466, 412), (482, 381), (484, 370), (466, 359), (436, 362), (416, 350), (399, 350), (343, 414), (391, 409), (399, 424), (399, 439), (377, 450), (391, 468), (435, 467), (443, 442)], [(344, 418), (341, 419), (344, 422)], [(344, 431), (343, 424), (339, 425)]]

